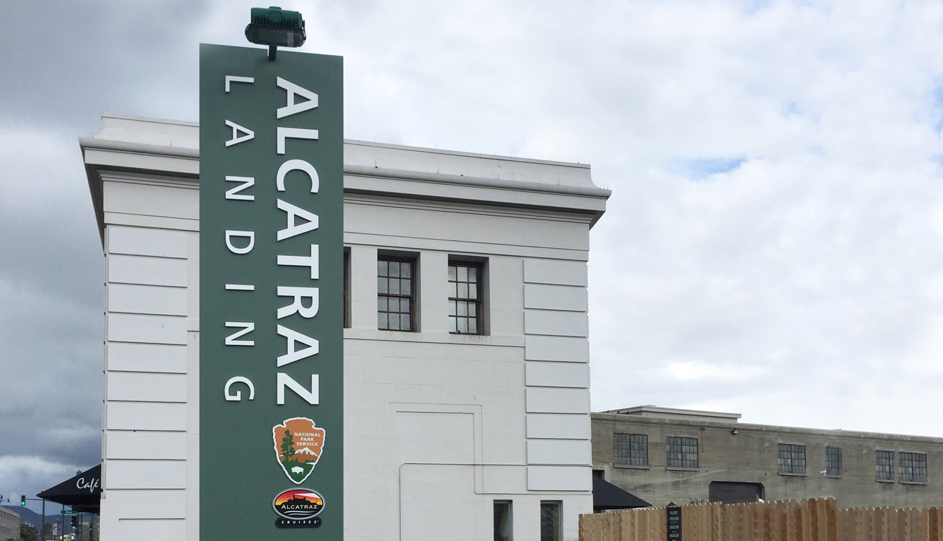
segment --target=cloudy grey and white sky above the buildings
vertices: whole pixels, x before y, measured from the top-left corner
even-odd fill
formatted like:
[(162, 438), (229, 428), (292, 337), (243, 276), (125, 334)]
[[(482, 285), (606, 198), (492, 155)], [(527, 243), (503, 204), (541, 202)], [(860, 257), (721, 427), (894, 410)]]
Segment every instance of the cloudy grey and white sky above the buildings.
[[(0, 22), (0, 493), (100, 457), (103, 258), (76, 138), (198, 117), (242, 0)], [(595, 410), (943, 436), (943, 2), (297, 1), (346, 136), (590, 163)], [(8, 7), (10, 8), (10, 7)], [(36, 14), (33, 16), (32, 14)], [(15, 503), (15, 501), (14, 501)]]

